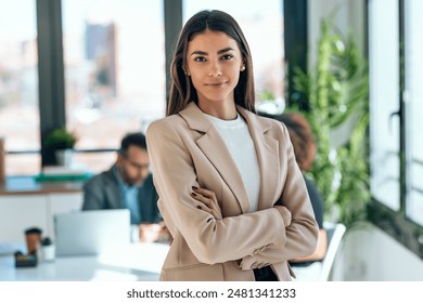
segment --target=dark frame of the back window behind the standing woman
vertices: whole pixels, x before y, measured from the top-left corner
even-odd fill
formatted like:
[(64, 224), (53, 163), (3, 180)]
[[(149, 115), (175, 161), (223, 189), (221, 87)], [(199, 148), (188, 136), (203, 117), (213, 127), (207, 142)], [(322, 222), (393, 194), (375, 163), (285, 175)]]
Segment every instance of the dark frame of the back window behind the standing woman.
[[(166, 100), (168, 100), (170, 75), (169, 67), (174, 47), (182, 27), (182, 1), (183, 0), (163, 0), (165, 15), (165, 52), (166, 52)], [(294, 23), (297, 17), (307, 21), (307, 0), (287, 1), (283, 0), (281, 5), (284, 14), (284, 28), (286, 32), (302, 32), (300, 38), (296, 37), (292, 43), (285, 43), (285, 54), (298, 53), (295, 50), (304, 49), (307, 43), (307, 24)], [(291, 13), (292, 12), (292, 13)], [(49, 152), (43, 141), (46, 135), (55, 128), (66, 126), (65, 108), (65, 71), (64, 71), (64, 51), (63, 51), (63, 30), (62, 30), (62, 1), (57, 0), (36, 0), (37, 18), (37, 42), (38, 42), (38, 97), (40, 115), (40, 150), (5, 150), (7, 155), (15, 154), (41, 154), (41, 167), (55, 164), (54, 155)], [(300, 30), (300, 31), (298, 31)], [(294, 35), (295, 36), (295, 35)], [(291, 36), (290, 36), (291, 37)], [(302, 55), (296, 57), (296, 62), (306, 67), (306, 52), (299, 52)], [(294, 58), (287, 57), (290, 62)], [(294, 66), (294, 64), (289, 64)], [(292, 73), (285, 75), (289, 83), (292, 82)], [(290, 80), (291, 79), (291, 80)], [(289, 89), (289, 88), (287, 88)], [(291, 93), (286, 96), (290, 97)], [(110, 148), (97, 149), (76, 149), (75, 153), (110, 153)]]

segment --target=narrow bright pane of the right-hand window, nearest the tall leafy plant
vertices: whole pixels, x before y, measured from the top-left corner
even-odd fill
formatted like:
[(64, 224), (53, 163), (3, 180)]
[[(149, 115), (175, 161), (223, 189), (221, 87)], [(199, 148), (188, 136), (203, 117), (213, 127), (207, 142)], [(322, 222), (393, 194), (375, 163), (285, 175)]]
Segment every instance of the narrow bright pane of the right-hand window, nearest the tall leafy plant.
[(370, 1), (369, 16), (371, 190), (399, 210), (398, 1)]

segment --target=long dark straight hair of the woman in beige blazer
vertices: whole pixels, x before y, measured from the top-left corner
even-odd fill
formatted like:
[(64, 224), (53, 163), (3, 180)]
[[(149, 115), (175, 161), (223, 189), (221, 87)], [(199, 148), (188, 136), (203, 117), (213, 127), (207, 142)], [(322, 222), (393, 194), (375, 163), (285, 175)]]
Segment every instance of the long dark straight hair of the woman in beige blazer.
[(235, 104), (255, 113), (253, 62), (249, 47), (236, 21), (222, 11), (214, 10), (201, 11), (193, 15), (179, 35), (170, 65), (171, 84), (167, 116), (179, 113), (191, 101), (198, 102), (196, 90), (183, 68), (187, 66), (188, 43), (206, 29), (225, 32), (238, 42), (245, 64), (245, 70), (241, 73), (234, 90)]

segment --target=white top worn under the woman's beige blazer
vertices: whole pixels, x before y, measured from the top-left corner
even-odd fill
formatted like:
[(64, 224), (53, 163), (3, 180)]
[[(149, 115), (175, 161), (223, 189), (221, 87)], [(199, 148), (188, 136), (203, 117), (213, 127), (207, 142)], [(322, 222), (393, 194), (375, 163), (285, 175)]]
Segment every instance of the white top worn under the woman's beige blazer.
[(215, 124), (223, 139), (247, 190), (251, 202), (249, 211), (256, 211), (260, 190), (260, 170), (247, 123), (241, 115), (238, 115), (235, 120), (221, 120), (207, 114), (204, 115)]

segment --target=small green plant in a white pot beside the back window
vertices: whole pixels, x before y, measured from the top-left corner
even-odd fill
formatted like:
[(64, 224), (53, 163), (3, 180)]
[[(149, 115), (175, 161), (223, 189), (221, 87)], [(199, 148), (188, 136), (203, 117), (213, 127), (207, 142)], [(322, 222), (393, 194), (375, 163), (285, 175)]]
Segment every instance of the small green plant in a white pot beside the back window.
[(46, 136), (44, 146), (53, 150), (57, 166), (68, 167), (76, 142), (74, 133), (65, 128), (57, 128)]

